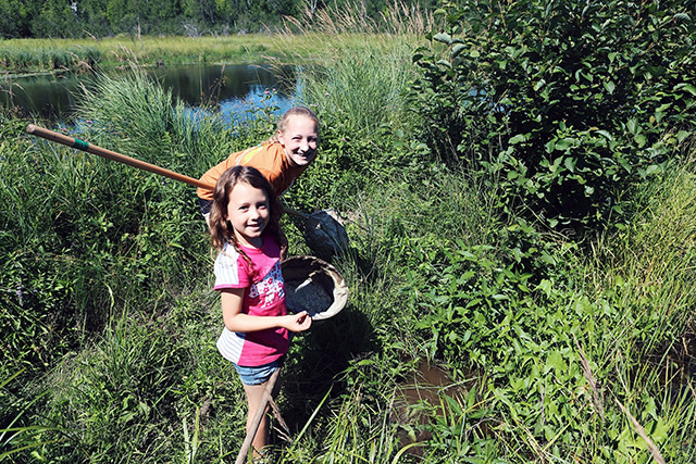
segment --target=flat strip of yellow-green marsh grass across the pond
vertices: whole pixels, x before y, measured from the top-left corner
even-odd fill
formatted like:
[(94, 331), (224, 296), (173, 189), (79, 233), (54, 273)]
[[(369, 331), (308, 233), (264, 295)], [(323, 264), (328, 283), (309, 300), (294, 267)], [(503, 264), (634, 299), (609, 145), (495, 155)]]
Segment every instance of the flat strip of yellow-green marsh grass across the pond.
[[(282, 37), (282, 38), (279, 38)], [(125, 36), (95, 39), (8, 39), (0, 43), (0, 72), (24, 75), (40, 72), (94, 72), (160, 64), (226, 63), (245, 64), (284, 60), (291, 63), (327, 57), (326, 43), (336, 35), (311, 33), (306, 35), (248, 34), (239, 36)], [(394, 37), (374, 33), (341, 35), (340, 41), (353, 45), (385, 42)]]

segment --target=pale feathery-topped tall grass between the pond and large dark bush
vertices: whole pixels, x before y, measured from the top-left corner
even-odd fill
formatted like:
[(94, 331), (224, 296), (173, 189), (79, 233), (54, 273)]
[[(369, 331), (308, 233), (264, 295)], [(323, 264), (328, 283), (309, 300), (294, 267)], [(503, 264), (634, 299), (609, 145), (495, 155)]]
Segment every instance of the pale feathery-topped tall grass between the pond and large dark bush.
[[(301, 66), (300, 100), (315, 104), (338, 137), (357, 142), (372, 138), (383, 126), (403, 127), (399, 124), (407, 117), (403, 91), (415, 75), (412, 43), (431, 23), (427, 13), (399, 2), (378, 22), (361, 14), (357, 3), (320, 10), (287, 21), (276, 39), (286, 50), (278, 60), (297, 62), (296, 57), (310, 54), (307, 50), (314, 48), (310, 43), (322, 43), (323, 49)], [(307, 37), (302, 43), (295, 39), (298, 32)]]

